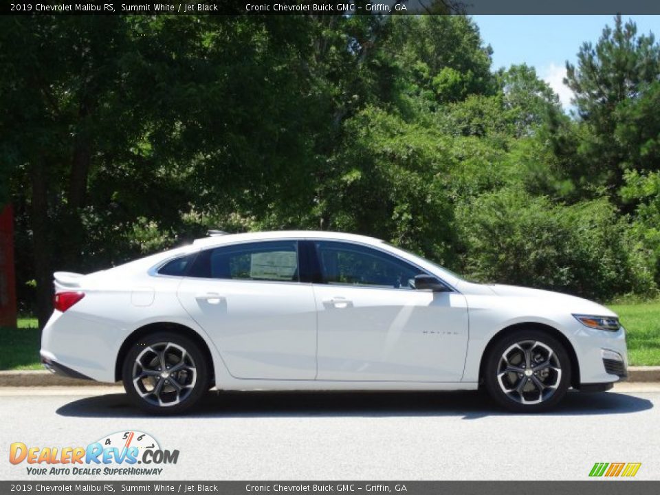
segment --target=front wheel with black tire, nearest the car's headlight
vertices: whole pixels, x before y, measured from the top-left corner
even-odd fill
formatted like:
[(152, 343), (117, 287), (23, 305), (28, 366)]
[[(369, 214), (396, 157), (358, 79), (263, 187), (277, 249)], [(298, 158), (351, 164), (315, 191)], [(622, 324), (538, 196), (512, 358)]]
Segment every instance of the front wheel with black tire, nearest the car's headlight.
[(490, 349), (483, 380), (500, 406), (513, 412), (542, 412), (566, 395), (571, 360), (564, 345), (548, 333), (520, 329)]

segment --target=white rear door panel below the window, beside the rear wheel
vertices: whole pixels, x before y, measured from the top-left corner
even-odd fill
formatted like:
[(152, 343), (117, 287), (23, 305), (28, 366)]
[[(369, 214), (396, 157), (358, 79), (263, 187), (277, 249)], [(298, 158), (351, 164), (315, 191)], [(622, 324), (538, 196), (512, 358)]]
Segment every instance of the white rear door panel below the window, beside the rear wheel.
[(232, 377), (316, 377), (316, 305), (311, 285), (188, 278), (181, 281), (178, 294), (181, 305), (214, 342)]

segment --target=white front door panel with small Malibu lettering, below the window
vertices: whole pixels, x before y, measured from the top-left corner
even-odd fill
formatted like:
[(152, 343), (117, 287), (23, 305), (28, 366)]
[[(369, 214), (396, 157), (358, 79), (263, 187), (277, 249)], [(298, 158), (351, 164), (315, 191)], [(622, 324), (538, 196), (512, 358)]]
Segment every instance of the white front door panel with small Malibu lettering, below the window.
[(318, 380), (460, 382), (465, 296), (314, 285)]

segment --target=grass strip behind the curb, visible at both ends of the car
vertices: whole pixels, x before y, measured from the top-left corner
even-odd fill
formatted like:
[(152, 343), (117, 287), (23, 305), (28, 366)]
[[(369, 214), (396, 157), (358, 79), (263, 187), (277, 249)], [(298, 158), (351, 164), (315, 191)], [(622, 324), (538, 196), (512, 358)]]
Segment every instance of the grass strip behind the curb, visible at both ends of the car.
[[(628, 331), (628, 358), (633, 366), (660, 366), (660, 301), (615, 304)], [(43, 369), (39, 362), (41, 333), (36, 318), (19, 318), (18, 328), (0, 329), (0, 370)]]

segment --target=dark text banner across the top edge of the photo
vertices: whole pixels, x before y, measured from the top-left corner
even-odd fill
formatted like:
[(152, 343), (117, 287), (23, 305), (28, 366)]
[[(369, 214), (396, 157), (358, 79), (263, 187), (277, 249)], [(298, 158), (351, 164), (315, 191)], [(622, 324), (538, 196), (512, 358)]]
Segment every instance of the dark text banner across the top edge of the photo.
[(660, 14), (658, 0), (41, 0), (0, 1), (5, 15)]

